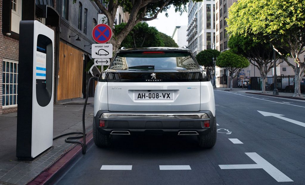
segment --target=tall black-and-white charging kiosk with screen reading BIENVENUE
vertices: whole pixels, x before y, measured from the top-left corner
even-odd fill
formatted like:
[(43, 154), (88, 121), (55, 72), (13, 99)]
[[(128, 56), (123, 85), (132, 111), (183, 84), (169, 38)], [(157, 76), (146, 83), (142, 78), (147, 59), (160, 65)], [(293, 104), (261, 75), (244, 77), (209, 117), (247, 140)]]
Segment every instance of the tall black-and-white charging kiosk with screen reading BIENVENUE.
[(16, 156), (31, 160), (53, 144), (54, 31), (20, 21)]

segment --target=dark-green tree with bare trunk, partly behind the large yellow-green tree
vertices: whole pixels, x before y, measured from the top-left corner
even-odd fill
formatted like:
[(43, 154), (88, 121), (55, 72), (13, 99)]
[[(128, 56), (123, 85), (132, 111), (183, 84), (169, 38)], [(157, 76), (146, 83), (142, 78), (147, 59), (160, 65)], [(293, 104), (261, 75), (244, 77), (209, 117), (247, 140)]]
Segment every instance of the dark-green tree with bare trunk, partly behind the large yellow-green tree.
[(254, 35), (247, 37), (235, 35), (229, 38), (228, 47), (233, 53), (246, 57), (254, 67), (257, 67), (262, 78), (262, 92), (266, 93), (266, 77), (274, 67), (274, 50), (270, 42), (258, 40)]

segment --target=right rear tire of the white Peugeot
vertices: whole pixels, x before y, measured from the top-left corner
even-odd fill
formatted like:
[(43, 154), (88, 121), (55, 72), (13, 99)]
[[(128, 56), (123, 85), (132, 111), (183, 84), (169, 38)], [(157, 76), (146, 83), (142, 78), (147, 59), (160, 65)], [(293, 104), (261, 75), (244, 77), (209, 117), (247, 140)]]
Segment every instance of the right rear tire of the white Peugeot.
[(213, 123), (212, 129), (210, 129), (210, 132), (206, 135), (199, 135), (198, 138), (198, 144), (202, 148), (212, 148), (216, 143), (216, 137), (217, 137), (217, 126), (216, 126), (216, 118)]

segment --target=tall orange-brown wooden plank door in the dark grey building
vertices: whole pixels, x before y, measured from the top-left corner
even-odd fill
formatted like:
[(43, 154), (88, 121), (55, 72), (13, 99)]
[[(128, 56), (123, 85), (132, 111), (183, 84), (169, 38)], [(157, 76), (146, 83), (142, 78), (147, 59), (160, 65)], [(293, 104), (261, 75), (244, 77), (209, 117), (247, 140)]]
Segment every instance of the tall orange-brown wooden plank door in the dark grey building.
[(79, 98), (83, 84), (83, 53), (63, 42), (59, 43), (59, 79), (57, 100)]

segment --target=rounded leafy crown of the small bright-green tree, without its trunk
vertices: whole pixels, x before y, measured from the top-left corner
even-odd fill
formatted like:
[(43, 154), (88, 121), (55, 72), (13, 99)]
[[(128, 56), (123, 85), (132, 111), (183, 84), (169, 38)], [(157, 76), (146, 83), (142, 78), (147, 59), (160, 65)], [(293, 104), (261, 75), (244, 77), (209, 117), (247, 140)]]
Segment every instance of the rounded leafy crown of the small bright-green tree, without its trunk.
[(240, 55), (233, 53), (231, 50), (220, 53), (217, 57), (216, 65), (218, 67), (225, 67), (229, 71), (231, 69), (242, 69), (249, 66), (249, 61)]

